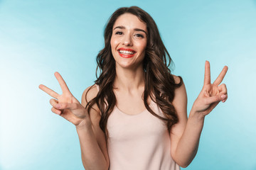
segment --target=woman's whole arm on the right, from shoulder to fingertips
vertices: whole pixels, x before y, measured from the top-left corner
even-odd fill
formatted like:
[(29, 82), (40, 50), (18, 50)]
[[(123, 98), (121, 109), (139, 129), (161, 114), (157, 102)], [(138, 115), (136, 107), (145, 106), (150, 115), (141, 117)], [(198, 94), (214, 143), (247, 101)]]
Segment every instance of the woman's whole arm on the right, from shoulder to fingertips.
[(178, 114), (179, 122), (171, 129), (171, 155), (174, 161), (182, 166), (188, 166), (196, 156), (204, 118), (218, 105), (228, 98), (225, 84), (218, 86), (227, 72), (224, 67), (219, 77), (210, 84), (210, 64), (206, 62), (205, 81), (203, 89), (193, 103), (189, 117), (187, 118), (187, 96), (184, 84), (176, 89), (174, 107)]

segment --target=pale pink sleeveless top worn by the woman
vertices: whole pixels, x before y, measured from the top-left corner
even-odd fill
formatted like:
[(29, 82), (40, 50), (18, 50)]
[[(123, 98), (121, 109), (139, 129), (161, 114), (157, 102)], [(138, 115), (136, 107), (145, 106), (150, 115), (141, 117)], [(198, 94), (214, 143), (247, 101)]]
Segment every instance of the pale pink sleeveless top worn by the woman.
[[(149, 107), (164, 116), (154, 101)], [(137, 115), (128, 115), (114, 106), (107, 130), (110, 170), (180, 170), (171, 157), (166, 124), (146, 109)]]

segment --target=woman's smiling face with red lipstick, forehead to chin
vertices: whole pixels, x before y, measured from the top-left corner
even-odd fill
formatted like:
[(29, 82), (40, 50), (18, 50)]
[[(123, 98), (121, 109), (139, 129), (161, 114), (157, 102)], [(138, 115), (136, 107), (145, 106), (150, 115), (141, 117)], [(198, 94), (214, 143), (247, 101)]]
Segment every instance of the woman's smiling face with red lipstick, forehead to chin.
[(142, 67), (146, 49), (146, 23), (131, 13), (117, 18), (110, 40), (116, 67), (135, 69)]

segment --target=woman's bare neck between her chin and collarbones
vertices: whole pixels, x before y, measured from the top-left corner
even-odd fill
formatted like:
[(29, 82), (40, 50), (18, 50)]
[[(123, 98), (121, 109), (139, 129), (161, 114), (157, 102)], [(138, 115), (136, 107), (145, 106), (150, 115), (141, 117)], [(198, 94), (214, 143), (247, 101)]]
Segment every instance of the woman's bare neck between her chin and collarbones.
[(116, 78), (114, 79), (114, 87), (132, 91), (144, 87), (144, 70), (143, 67), (137, 69), (125, 69), (116, 67)]

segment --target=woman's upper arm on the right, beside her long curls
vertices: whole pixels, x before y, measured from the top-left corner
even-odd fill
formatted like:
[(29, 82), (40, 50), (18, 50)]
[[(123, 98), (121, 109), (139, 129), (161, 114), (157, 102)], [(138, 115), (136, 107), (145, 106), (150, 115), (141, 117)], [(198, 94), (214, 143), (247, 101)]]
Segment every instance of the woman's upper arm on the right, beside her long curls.
[[(174, 76), (174, 80), (179, 83), (179, 78)], [(186, 127), (186, 122), (188, 120), (187, 116), (187, 95), (185, 84), (183, 83), (180, 87), (174, 91), (174, 101), (173, 106), (176, 109), (178, 115), (178, 123), (172, 126), (171, 128), (171, 155), (174, 156), (178, 141), (181, 139), (183, 132)]]

